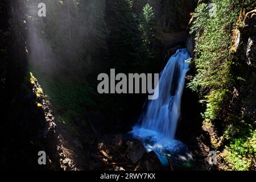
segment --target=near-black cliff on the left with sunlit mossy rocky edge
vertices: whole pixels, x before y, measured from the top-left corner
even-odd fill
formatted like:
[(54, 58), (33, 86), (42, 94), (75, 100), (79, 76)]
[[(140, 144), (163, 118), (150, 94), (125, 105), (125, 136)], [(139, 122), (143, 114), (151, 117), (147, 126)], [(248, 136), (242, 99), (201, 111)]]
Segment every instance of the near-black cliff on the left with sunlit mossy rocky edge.
[[(60, 169), (53, 109), (27, 73), (26, 29), (19, 10), (15, 1), (0, 2), (1, 168)], [(39, 151), (47, 152), (48, 165), (38, 165)]]

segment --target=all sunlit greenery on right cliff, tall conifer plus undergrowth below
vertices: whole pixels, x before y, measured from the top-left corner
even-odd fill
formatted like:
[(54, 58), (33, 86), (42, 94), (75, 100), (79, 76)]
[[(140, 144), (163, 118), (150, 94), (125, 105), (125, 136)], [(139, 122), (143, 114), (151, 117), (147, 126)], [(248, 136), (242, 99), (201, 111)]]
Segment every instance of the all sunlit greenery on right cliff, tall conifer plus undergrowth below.
[(212, 9), (206, 3), (201, 3), (193, 15), (191, 35), (196, 36), (196, 47), (192, 64), (195, 64), (196, 75), (189, 88), (199, 92), (203, 98), (206, 107), (204, 125), (213, 126), (219, 131), (221, 129), (217, 126), (226, 126), (221, 137), (216, 133), (211, 137), (214, 148), (225, 144), (225, 150), (220, 154), (224, 164), (220, 168), (253, 169), (255, 121), (245, 118), (243, 114), (234, 114), (234, 108), (230, 106), (236, 81), (243, 80), (232, 72), (232, 68), (236, 67), (236, 58), (230, 51), (233, 29), (240, 10), (253, 5), (253, 2), (221, 0), (212, 3)]

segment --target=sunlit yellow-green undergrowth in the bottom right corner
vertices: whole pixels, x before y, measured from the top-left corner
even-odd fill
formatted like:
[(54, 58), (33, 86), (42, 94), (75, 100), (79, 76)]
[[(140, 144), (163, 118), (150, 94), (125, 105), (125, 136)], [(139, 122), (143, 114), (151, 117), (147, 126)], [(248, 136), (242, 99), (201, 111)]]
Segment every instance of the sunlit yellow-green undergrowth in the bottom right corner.
[(222, 169), (255, 170), (256, 130), (254, 122), (233, 122), (225, 131), (230, 144), (222, 152), (224, 165)]

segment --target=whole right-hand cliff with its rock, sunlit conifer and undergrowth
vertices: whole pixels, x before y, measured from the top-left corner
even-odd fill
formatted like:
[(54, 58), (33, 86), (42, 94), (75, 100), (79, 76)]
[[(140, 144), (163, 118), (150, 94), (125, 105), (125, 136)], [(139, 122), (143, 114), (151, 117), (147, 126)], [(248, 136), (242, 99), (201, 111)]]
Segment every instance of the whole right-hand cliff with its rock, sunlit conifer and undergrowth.
[(203, 106), (201, 134), (206, 151), (218, 151), (218, 169), (255, 170), (254, 7), (254, 1), (204, 1), (191, 19), (188, 86)]

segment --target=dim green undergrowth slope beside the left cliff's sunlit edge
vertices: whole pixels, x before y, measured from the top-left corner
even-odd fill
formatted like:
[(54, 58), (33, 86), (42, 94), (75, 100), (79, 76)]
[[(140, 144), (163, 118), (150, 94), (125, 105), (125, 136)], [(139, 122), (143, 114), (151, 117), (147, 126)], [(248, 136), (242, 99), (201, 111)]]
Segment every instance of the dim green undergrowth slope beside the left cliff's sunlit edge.
[[(84, 79), (66, 77), (64, 75), (49, 76), (38, 69), (31, 69), (37, 78), (42, 90), (36, 94), (44, 93), (55, 109), (57, 122), (62, 123), (69, 130), (75, 130), (74, 125), (87, 125), (86, 110), (96, 107), (96, 94)], [(72, 80), (71, 80), (72, 79)]]

